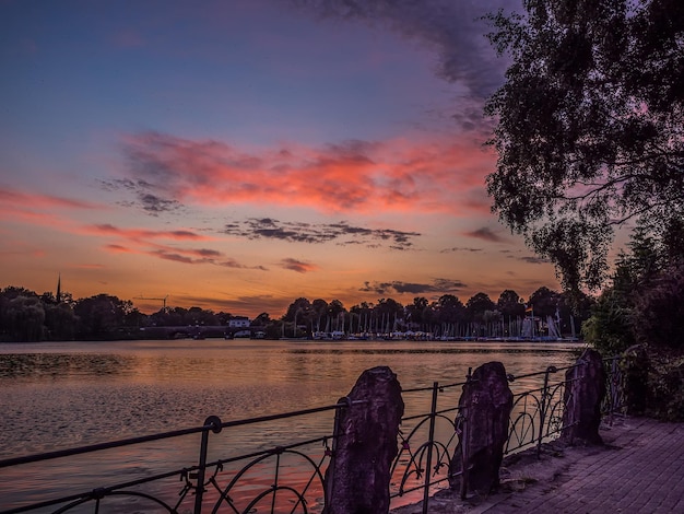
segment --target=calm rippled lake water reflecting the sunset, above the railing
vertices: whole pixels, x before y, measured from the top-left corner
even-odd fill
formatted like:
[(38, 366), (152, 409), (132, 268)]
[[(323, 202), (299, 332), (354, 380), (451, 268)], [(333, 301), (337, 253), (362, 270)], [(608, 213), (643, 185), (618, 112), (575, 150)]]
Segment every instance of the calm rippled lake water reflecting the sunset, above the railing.
[[(403, 388), (462, 382), (469, 366), (502, 361), (521, 375), (566, 366), (565, 343), (126, 341), (0, 344), (0, 459), (223, 421), (332, 405), (358, 375), (388, 365)], [(534, 379), (529, 379), (532, 383)], [(520, 384), (517, 384), (520, 385)], [(406, 412), (423, 405), (404, 398)], [(413, 409), (413, 410), (412, 410)], [(330, 431), (332, 414), (231, 433), (231, 448), (268, 447)], [(226, 452), (227, 447), (214, 448)], [(0, 469), (0, 507), (50, 492), (191, 466), (197, 439)], [(223, 455), (223, 454), (222, 454)], [(123, 478), (126, 479), (126, 478)], [(79, 489), (80, 488), (80, 489)]]

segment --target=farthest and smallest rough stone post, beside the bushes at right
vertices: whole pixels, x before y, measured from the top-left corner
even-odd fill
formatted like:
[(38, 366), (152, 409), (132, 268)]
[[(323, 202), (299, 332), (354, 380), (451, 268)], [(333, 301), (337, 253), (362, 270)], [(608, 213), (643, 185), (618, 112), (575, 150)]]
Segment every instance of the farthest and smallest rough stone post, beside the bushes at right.
[(574, 444), (602, 444), (599, 435), (601, 402), (605, 396), (605, 370), (601, 354), (588, 348), (565, 373), (563, 430), (561, 439)]

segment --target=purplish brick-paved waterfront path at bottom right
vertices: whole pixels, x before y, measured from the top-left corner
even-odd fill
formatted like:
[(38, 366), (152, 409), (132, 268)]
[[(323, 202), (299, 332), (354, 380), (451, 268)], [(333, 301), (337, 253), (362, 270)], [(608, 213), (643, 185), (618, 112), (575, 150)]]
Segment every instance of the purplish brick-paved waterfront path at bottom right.
[[(461, 501), (447, 491), (433, 514), (585, 514), (684, 512), (684, 423), (617, 418), (601, 430), (603, 446), (545, 447), (541, 460), (506, 459), (502, 491)], [(394, 511), (421, 512), (420, 505)]]

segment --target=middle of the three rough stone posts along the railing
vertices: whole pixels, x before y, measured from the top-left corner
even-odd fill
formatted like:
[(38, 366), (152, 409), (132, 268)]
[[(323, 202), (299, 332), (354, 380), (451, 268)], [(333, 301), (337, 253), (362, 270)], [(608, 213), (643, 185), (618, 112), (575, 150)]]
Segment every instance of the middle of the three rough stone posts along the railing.
[[(460, 489), (461, 497), (468, 490), (487, 495), (498, 488), (511, 409), (512, 393), (500, 362), (482, 364), (463, 385), (459, 399), (462, 433), (449, 467), (451, 489)], [(463, 475), (453, 476), (463, 468)]]

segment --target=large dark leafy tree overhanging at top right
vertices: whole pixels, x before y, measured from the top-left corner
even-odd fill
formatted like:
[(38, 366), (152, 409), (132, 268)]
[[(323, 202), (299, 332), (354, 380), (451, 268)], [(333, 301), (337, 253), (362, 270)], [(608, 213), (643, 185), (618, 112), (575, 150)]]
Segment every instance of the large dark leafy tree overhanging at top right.
[(512, 63), (485, 113), (493, 210), (566, 290), (601, 285), (614, 227), (684, 219), (684, 2), (527, 1), (488, 20)]

